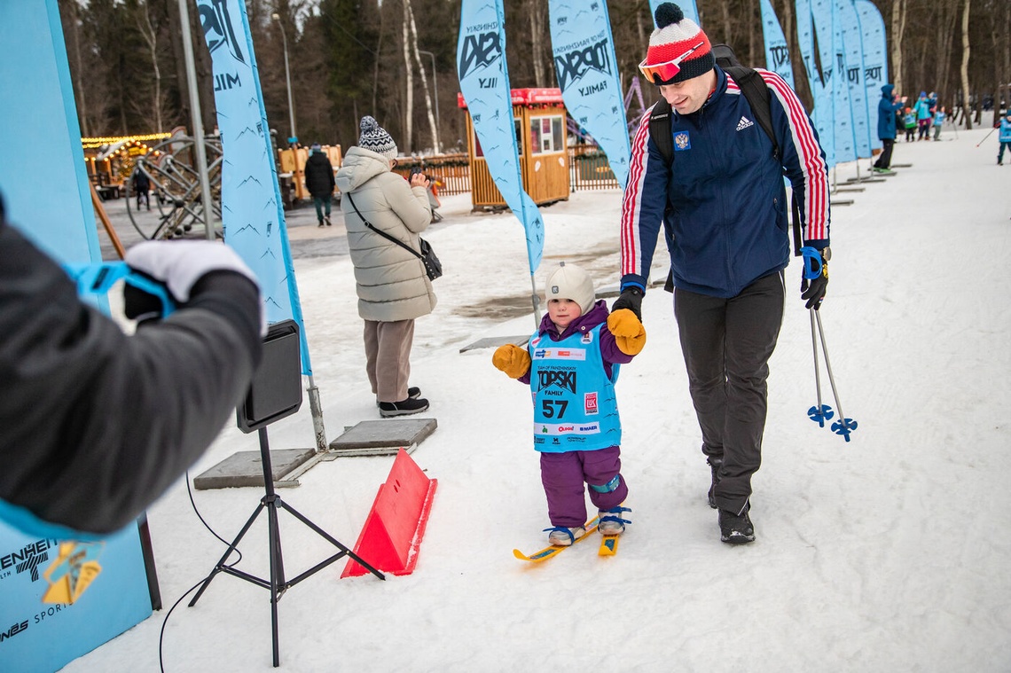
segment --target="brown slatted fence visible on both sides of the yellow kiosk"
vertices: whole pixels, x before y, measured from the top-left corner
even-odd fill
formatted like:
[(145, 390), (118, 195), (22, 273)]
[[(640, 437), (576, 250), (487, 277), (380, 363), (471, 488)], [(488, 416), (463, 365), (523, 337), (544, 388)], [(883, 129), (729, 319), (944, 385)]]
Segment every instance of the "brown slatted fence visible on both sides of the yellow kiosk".
[[(575, 146), (569, 148), (568, 155), (571, 191), (619, 187), (618, 179), (608, 164), (607, 155), (599, 148)], [(442, 183), (439, 187), (440, 194), (464, 194), (471, 190), (470, 164), (465, 154), (400, 158), (393, 172), (406, 178), (413, 168), (422, 169), (430, 178), (437, 178)]]

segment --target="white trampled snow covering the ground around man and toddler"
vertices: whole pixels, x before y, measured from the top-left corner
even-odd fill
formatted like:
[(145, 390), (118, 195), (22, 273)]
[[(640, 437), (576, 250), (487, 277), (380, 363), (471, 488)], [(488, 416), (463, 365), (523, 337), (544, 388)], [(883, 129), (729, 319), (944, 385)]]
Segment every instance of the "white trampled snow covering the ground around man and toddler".
[[(446, 269), (440, 303), (418, 321), (412, 356), (411, 383), (432, 401), (424, 415), (439, 422), (412, 455), (439, 481), (417, 569), (342, 580), (342, 561), (290, 589), (279, 670), (1011, 670), (1011, 167), (995, 166), (996, 134), (976, 147), (988, 130), (900, 142), (894, 163), (912, 168), (836, 196), (853, 204), (833, 209), (821, 315), (844, 411), (859, 426), (846, 443), (808, 419), (810, 323), (791, 291), (753, 481), (757, 541), (736, 548), (720, 543), (706, 502), (671, 295), (655, 289), (644, 301), (648, 346), (618, 386), (634, 521), (619, 555), (598, 557), (590, 542), (543, 565), (513, 557), (514, 547), (540, 549), (548, 524), (530, 396), (489, 350), (460, 349), (533, 330), (523, 230), (509, 213), (471, 214), (469, 195), (447, 198), (446, 221), (427, 236)], [(837, 182), (854, 174), (840, 167)], [(614, 286), (620, 203), (618, 190), (578, 192), (544, 208), (538, 282), (568, 260)], [(378, 418), (351, 263), (297, 259), (295, 269), (333, 440)], [(795, 261), (790, 287), (799, 277)], [(824, 376), (822, 393), (835, 406)], [(308, 404), (269, 432), (274, 449), (311, 447)], [(257, 446), (226, 427), (190, 476)], [(391, 464), (320, 463), (281, 495), (350, 546)], [(231, 541), (261, 494), (194, 499)], [(182, 481), (149, 516), (171, 606), (224, 548)], [(281, 535), (289, 577), (333, 551), (284, 513)], [(241, 551), (240, 567), (267, 576), (264, 517)], [(166, 671), (271, 670), (267, 591), (221, 575), (195, 607), (185, 602), (165, 629)], [(165, 612), (65, 670), (158, 670)]]

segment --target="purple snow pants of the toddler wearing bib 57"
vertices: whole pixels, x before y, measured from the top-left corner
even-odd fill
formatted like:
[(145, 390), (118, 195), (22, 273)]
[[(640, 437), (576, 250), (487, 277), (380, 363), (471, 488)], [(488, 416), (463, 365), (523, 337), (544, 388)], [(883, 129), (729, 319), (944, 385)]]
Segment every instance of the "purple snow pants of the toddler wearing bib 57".
[[(619, 447), (599, 451), (567, 451), (563, 454), (541, 454), (541, 483), (548, 496), (548, 517), (551, 525), (575, 527), (586, 522), (586, 488), (583, 484), (603, 486), (621, 474)], [(625, 501), (629, 488), (625, 477), (618, 488), (609, 493), (589, 490), (589, 501), (598, 509), (611, 509)]]

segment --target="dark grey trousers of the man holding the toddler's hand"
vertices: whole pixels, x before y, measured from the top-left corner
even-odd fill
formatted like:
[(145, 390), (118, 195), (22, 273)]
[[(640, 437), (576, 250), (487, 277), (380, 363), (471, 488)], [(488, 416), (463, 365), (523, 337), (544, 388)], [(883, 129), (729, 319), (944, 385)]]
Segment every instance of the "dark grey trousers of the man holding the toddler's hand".
[(729, 299), (674, 290), (703, 453), (723, 460), (716, 503), (734, 513), (747, 507), (751, 475), (761, 465), (768, 359), (779, 336), (784, 296), (783, 272), (759, 278)]

